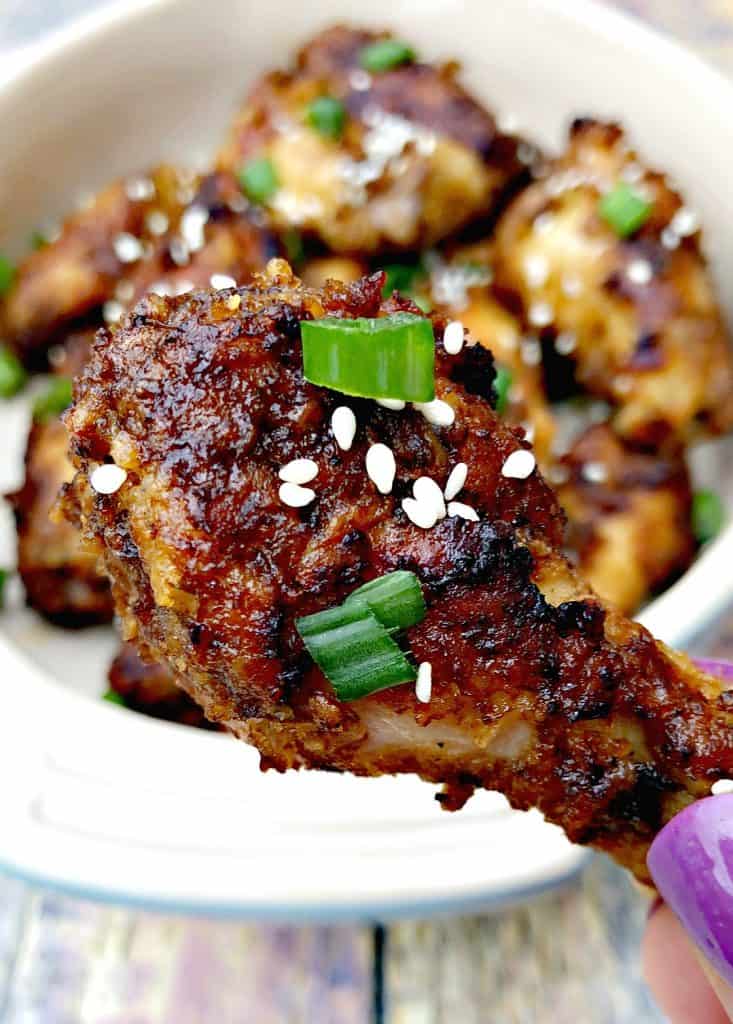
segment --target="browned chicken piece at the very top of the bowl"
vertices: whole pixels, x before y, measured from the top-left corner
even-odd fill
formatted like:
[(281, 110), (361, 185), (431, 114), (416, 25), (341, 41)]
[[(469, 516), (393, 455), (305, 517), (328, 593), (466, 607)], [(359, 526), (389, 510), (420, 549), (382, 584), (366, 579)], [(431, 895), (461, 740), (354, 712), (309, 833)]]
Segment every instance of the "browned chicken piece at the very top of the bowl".
[[(316, 36), (291, 70), (254, 86), (218, 158), (231, 171), (269, 159), (279, 187), (268, 215), (336, 253), (432, 245), (493, 213), (526, 176), (517, 140), (459, 85), (456, 66), (364, 72), (362, 50), (384, 38), (344, 27)], [(346, 110), (340, 138), (307, 122), (324, 95)]]

